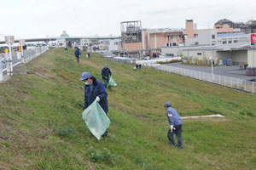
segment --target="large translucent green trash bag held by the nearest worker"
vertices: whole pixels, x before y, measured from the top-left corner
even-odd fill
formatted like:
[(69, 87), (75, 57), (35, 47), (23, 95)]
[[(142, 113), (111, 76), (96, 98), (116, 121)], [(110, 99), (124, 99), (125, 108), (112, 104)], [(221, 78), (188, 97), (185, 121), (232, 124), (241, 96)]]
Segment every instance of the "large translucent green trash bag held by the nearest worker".
[(96, 139), (101, 139), (110, 125), (110, 120), (96, 100), (83, 113), (83, 120)]

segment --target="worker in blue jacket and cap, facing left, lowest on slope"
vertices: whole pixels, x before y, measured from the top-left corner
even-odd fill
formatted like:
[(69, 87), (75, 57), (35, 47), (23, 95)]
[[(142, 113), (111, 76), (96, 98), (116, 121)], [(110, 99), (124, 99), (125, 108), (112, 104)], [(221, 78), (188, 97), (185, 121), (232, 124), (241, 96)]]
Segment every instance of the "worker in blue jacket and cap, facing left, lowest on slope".
[[(175, 109), (171, 107), (171, 104), (169, 102), (165, 103), (165, 109), (166, 109), (166, 116), (168, 119), (168, 122), (170, 124), (170, 129), (167, 133), (167, 137), (172, 144), (172, 146), (177, 146), (180, 149), (183, 149), (183, 138), (182, 138), (182, 121)], [(175, 143), (175, 140), (173, 138), (173, 135), (176, 134), (177, 138), (177, 145)]]

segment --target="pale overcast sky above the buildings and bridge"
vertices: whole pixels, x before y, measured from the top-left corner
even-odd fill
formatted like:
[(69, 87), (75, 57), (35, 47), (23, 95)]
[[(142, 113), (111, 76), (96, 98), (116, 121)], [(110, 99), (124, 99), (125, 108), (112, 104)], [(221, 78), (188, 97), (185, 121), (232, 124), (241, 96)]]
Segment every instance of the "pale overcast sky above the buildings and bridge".
[(256, 19), (255, 0), (0, 0), (0, 40), (18, 38), (120, 35), (120, 22), (142, 20), (143, 28), (212, 28), (220, 19)]

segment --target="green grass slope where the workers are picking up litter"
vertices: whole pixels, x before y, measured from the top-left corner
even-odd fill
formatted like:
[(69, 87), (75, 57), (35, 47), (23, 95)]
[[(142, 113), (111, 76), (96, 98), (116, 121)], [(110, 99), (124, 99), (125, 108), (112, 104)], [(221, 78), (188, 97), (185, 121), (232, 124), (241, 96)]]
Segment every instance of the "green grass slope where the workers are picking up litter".
[[(97, 141), (82, 120), (83, 71), (99, 80), (103, 64), (119, 85), (108, 91), (107, 139)], [(255, 169), (256, 97), (164, 71), (92, 54), (76, 63), (56, 48), (0, 84), (0, 169)], [(163, 130), (163, 107), (183, 120), (183, 150)]]

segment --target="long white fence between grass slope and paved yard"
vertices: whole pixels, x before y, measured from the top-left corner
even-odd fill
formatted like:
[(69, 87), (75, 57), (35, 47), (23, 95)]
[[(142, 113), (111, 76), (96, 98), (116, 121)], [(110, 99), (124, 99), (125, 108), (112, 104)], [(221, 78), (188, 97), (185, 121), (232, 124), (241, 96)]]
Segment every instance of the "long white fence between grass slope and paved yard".
[(253, 94), (256, 93), (256, 82), (241, 80), (233, 77), (224, 77), (224, 76), (215, 75), (215, 74), (213, 74), (212, 76), (211, 73), (201, 72), (201, 71), (192, 71), (189, 69), (178, 68), (170, 65), (152, 65), (152, 66), (160, 71), (172, 72), (178, 75), (182, 75), (184, 77), (191, 77), (191, 78), (195, 78), (205, 82), (212, 82), (225, 87), (236, 88), (236, 89), (253, 93)]

